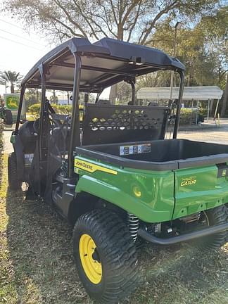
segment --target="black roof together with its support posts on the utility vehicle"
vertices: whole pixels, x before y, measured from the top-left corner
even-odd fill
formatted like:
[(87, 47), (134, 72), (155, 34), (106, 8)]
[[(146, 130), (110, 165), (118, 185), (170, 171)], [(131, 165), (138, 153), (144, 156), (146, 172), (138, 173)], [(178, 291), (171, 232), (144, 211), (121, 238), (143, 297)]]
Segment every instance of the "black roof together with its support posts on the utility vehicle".
[[(179, 113), (184, 89), (184, 65), (177, 58), (171, 58), (163, 51), (139, 46), (115, 39), (101, 39), (91, 44), (88, 39), (72, 38), (46, 54), (27, 73), (21, 85), (18, 118), (15, 135), (18, 134), (23, 96), (27, 88), (42, 89), (39, 120), (39, 159), (46, 158), (45, 125), (49, 111), (46, 103), (46, 89), (72, 91), (72, 115), (70, 143), (68, 148), (68, 178), (73, 175), (73, 152), (80, 141), (79, 93), (102, 93), (103, 89), (126, 81), (132, 86), (132, 101), (135, 105), (135, 78), (158, 70), (174, 70), (180, 75), (179, 99), (173, 138), (177, 138)], [(167, 119), (167, 118), (166, 118)]]

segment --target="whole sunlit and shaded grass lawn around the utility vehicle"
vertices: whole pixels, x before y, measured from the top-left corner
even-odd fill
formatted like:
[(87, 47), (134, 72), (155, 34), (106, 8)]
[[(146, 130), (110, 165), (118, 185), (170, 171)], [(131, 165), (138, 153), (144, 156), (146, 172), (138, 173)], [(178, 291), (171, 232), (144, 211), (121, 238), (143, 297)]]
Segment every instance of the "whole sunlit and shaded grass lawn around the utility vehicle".
[[(93, 303), (72, 262), (71, 229), (42, 201), (0, 189), (0, 303)], [(139, 252), (144, 283), (122, 304), (227, 304), (228, 245), (203, 253), (186, 245)], [(107, 303), (108, 304), (108, 303)]]

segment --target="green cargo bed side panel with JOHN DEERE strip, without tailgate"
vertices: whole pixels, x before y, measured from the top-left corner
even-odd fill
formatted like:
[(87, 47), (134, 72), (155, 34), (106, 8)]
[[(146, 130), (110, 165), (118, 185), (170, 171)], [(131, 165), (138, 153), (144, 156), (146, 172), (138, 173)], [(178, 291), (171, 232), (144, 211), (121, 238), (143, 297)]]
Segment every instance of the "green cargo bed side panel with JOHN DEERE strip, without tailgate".
[[(98, 163), (89, 158), (77, 157), (96, 165), (103, 165), (118, 172), (117, 175), (96, 170), (94, 173), (77, 169), (80, 179), (75, 191), (85, 191), (139, 217), (144, 222), (170, 220), (175, 205), (174, 173), (121, 169)], [(134, 194), (141, 191), (141, 196)]]

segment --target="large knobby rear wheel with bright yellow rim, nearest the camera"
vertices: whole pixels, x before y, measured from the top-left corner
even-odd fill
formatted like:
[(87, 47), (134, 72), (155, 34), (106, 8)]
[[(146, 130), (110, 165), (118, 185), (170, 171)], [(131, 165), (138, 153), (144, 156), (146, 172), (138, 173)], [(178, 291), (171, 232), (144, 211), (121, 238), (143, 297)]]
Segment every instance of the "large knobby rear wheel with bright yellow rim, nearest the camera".
[(89, 296), (114, 304), (138, 284), (137, 251), (127, 226), (110, 210), (82, 215), (73, 232), (77, 272)]

